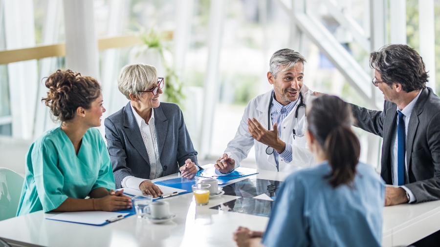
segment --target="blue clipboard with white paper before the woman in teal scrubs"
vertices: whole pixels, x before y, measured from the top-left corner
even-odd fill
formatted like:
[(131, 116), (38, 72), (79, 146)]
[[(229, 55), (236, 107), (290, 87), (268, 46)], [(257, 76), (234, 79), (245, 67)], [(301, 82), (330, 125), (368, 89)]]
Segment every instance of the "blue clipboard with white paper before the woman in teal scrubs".
[(115, 211), (80, 211), (80, 212), (64, 212), (47, 217), (47, 220), (64, 221), (77, 224), (85, 224), (91, 226), (105, 226), (112, 222), (125, 219), (136, 214), (134, 206), (132, 208)]

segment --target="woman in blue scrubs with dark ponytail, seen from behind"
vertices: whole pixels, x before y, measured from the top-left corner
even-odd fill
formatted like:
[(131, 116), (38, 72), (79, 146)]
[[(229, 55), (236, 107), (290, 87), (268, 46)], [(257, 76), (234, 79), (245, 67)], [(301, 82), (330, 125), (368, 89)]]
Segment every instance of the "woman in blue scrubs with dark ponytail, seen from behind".
[(234, 240), (240, 247), (379, 247), (385, 185), (372, 166), (359, 163), (349, 104), (317, 98), (307, 122), (318, 165), (287, 177), (264, 233), (239, 227)]

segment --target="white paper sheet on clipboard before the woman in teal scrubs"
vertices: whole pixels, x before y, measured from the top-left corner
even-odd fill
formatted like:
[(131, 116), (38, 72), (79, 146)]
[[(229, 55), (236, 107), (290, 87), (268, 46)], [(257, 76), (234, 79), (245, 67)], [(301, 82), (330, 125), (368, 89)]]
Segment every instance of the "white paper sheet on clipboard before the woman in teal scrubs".
[(128, 214), (129, 213), (105, 211), (64, 212), (47, 217), (46, 219), (99, 226), (106, 223), (107, 220), (112, 220), (120, 215), (126, 216)]

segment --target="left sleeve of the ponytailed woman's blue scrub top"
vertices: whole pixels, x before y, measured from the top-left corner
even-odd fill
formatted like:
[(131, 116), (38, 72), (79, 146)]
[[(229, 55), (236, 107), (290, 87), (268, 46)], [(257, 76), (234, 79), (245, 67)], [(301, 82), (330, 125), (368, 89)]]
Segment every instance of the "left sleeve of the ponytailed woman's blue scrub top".
[(305, 215), (307, 194), (298, 178), (291, 177), (280, 188), (264, 232), (266, 247), (309, 246), (308, 221)]

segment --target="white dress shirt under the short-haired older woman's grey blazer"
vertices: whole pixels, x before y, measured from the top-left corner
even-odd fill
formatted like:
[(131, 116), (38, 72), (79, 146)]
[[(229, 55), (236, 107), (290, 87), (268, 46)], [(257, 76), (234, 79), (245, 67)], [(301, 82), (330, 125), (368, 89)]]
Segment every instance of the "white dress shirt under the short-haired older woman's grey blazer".
[[(133, 106), (132, 111), (134, 114), (134, 118), (136, 119), (137, 125), (139, 126), (142, 140), (144, 141), (145, 147), (147, 149), (148, 158), (150, 159), (150, 179), (160, 178), (163, 173), (163, 168), (160, 164), (159, 150), (157, 148), (156, 128), (154, 125), (154, 108), (151, 109), (151, 118), (148, 123), (145, 123), (145, 120), (141, 116), (139, 116), (139, 114), (137, 114)], [(121, 186), (139, 189), (139, 185), (146, 180), (148, 179), (127, 176), (122, 179)]]

